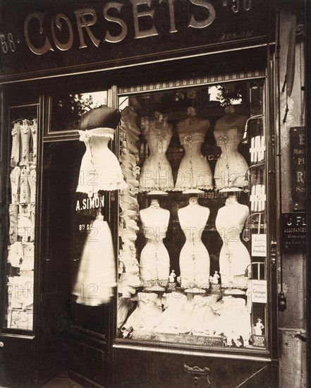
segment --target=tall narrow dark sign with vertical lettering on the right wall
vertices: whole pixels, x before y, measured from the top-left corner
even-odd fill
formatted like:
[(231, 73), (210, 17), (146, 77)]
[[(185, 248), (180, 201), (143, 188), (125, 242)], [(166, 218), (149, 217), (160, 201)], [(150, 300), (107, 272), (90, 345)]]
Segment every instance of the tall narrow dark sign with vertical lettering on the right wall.
[(305, 210), (306, 198), (306, 148), (305, 127), (293, 127), (291, 137), (291, 199), (292, 210)]

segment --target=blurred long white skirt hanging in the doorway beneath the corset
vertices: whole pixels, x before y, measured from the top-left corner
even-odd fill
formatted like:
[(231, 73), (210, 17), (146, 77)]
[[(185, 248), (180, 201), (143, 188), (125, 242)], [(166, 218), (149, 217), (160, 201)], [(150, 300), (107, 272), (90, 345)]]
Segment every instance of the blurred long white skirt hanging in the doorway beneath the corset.
[(83, 248), (80, 267), (73, 286), (76, 303), (109, 303), (116, 286), (114, 247), (109, 225), (98, 216), (92, 224)]

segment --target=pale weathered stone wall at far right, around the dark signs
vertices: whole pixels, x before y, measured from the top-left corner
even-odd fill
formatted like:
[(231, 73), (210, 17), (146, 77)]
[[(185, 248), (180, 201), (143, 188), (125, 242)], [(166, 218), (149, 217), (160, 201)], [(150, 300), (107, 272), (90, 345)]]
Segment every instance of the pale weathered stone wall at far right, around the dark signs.
[[(293, 3), (283, 5), (280, 15), (280, 87), (281, 98), (278, 104), (277, 95), (277, 66), (276, 66), (276, 118), (280, 111), (281, 123), (276, 120), (276, 128), (280, 129), (280, 160), (281, 173), (279, 175), (281, 192), (280, 212), (293, 212), (291, 197), (291, 154), (290, 154), (290, 128), (305, 125), (305, 42), (304, 32), (300, 34), (301, 17), (303, 16), (304, 1), (295, 1), (297, 18), (293, 13)], [(293, 91), (286, 101), (286, 87), (282, 91), (286, 72), (290, 72), (293, 63), (288, 59), (288, 45), (291, 42), (291, 28), (296, 25), (295, 36), (295, 78)], [(286, 121), (286, 107), (288, 113)], [(280, 108), (280, 110), (279, 110)], [(286, 294), (287, 307), (279, 312), (279, 349), (280, 349), (280, 383), (282, 388), (307, 387), (307, 342), (306, 342), (306, 309), (307, 309), (307, 286), (306, 286), (306, 253), (284, 253), (279, 246), (279, 274), (281, 265), (283, 270), (283, 291)], [(279, 256), (280, 257), (280, 256)], [(281, 291), (281, 284), (279, 284)]]

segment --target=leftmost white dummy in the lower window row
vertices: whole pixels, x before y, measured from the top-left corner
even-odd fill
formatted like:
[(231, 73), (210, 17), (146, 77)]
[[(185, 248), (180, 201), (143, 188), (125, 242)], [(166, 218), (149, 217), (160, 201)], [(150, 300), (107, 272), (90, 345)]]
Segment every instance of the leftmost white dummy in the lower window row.
[(161, 209), (158, 200), (140, 210), (147, 243), (140, 254), (140, 278), (145, 290), (164, 291), (169, 281), (169, 253), (163, 239), (169, 225), (169, 210)]

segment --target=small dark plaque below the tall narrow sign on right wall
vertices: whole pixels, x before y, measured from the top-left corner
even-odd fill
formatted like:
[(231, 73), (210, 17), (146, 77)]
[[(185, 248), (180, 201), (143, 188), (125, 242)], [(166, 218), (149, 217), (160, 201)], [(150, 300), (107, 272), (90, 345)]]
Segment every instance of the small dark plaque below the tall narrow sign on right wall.
[(304, 253), (307, 249), (307, 215), (301, 213), (282, 213), (283, 252)]

